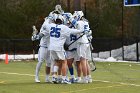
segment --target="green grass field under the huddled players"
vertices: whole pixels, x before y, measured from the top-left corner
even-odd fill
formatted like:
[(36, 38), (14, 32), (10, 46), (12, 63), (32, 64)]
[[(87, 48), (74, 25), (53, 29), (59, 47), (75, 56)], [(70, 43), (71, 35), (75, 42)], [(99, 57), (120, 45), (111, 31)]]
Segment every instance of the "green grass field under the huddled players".
[(97, 62), (93, 83), (71, 85), (45, 83), (45, 64), (41, 83), (34, 83), (36, 63), (0, 62), (0, 93), (140, 93), (138, 63)]

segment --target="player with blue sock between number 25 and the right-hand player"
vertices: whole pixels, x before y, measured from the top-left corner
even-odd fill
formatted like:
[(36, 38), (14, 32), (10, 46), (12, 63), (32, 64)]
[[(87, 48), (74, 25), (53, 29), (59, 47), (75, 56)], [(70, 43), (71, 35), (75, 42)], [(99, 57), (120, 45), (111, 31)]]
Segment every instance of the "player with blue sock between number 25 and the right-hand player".
[[(74, 28), (72, 24), (69, 21), (69, 18), (72, 17), (71, 13), (63, 13), (62, 14), (65, 18), (64, 24), (68, 26), (69, 28)], [(77, 39), (77, 36), (75, 34), (70, 34), (70, 36), (66, 39), (65, 45), (69, 45), (72, 42), (70, 46), (66, 46), (68, 49), (66, 49), (66, 54), (67, 54), (67, 64), (68, 64), (68, 69), (71, 75), (70, 82), (74, 83), (75, 82), (75, 76), (74, 76), (74, 68), (73, 68), (73, 62), (74, 62), (74, 57), (76, 56), (76, 42), (75, 40)]]

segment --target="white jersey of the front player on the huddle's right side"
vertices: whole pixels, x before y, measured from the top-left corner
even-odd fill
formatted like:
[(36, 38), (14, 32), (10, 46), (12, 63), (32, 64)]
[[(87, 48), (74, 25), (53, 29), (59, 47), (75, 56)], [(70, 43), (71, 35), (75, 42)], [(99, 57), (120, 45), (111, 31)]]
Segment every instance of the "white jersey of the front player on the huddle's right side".
[[(83, 20), (80, 20), (80, 21), (77, 21), (77, 26), (76, 26), (76, 28), (78, 29), (78, 30), (82, 30), (82, 31), (85, 31), (85, 30), (89, 30), (89, 24), (88, 24), (88, 22), (86, 22), (86, 21), (83, 21)], [(77, 35), (77, 37), (80, 37), (82, 34), (78, 34)], [(87, 39), (87, 36), (86, 36), (86, 34), (85, 35), (83, 35), (78, 41), (77, 41), (78, 43), (88, 43), (89, 41), (88, 41), (88, 39)]]

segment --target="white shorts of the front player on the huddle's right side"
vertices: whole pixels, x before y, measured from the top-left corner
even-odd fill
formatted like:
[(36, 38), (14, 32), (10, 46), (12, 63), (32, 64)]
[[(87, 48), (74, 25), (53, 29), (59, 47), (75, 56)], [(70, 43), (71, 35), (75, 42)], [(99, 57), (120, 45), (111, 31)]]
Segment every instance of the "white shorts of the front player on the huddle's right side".
[(89, 47), (89, 44), (83, 44), (83, 43), (77, 44), (76, 61), (79, 61), (81, 57), (87, 59), (87, 53), (89, 53), (88, 52), (88, 50), (89, 50), (88, 47)]

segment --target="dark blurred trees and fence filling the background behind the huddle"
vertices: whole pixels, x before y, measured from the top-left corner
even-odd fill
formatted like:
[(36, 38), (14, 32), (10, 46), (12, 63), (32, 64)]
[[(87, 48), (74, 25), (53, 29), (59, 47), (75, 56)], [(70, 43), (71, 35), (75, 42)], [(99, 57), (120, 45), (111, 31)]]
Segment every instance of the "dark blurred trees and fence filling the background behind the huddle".
[(136, 44), (139, 61), (140, 6), (126, 7), (124, 0), (1, 0), (0, 54), (37, 53), (39, 41), (31, 41), (32, 25), (39, 30), (56, 4), (65, 12), (84, 12), (92, 30), (92, 52), (122, 48), (125, 60), (124, 46)]

